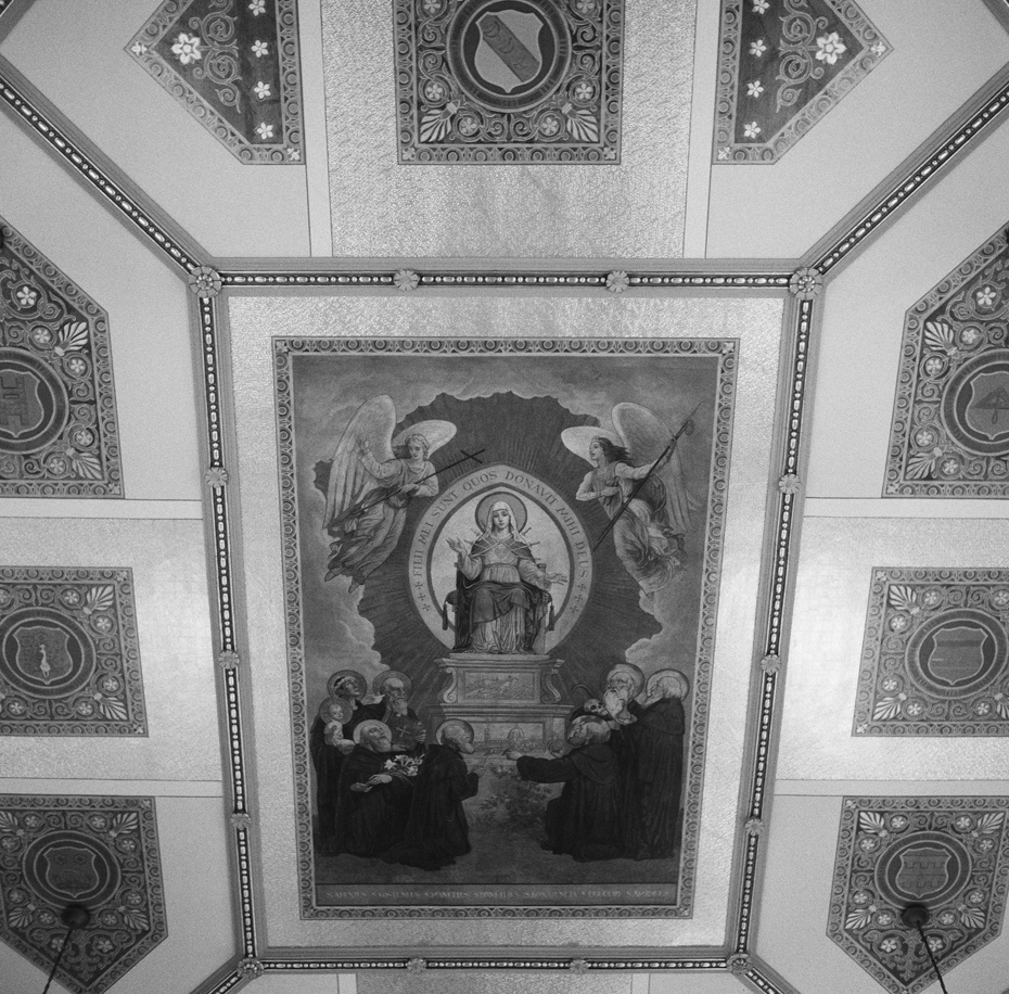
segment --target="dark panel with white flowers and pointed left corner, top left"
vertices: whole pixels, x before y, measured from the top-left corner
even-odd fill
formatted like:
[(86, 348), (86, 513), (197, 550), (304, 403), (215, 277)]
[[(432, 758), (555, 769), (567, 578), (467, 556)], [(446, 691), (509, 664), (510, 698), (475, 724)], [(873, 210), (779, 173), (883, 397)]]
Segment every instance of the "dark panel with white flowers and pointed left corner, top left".
[(240, 162), (303, 161), (295, 0), (165, 0), (127, 51)]

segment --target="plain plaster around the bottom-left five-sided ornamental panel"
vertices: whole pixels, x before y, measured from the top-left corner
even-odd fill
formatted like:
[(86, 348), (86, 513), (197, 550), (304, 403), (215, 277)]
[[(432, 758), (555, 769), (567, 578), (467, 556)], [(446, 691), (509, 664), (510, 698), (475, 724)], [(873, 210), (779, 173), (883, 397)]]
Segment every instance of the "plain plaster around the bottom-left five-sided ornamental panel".
[[(155, 797), (154, 804), (168, 935), (115, 984), (116, 991), (192, 991), (234, 955), (220, 801)], [(46, 983), (38, 967), (7, 945), (0, 945), (0, 974), (4, 991), (40, 991)], [(62, 990), (53, 984), (53, 991)]]

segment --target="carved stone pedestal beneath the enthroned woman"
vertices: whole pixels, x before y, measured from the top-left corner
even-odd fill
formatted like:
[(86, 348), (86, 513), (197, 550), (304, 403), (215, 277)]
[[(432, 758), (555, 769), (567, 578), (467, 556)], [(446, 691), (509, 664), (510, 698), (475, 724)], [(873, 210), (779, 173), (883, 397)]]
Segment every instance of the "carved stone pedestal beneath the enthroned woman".
[(557, 684), (562, 662), (549, 655), (452, 652), (438, 660), (445, 683), (432, 709), (435, 722), (469, 722), (477, 754), (500, 754), (506, 749), (547, 753), (551, 741), (564, 741), (571, 713)]

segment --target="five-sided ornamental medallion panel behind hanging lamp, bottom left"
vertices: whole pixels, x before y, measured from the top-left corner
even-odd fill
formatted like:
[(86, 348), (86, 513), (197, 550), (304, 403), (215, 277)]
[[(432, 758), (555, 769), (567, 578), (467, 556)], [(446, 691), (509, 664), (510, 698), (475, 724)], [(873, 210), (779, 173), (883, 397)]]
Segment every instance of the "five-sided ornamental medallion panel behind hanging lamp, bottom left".
[(168, 934), (154, 801), (0, 794), (0, 936), (49, 971), (67, 904), (91, 922), (56, 972), (101, 994)]

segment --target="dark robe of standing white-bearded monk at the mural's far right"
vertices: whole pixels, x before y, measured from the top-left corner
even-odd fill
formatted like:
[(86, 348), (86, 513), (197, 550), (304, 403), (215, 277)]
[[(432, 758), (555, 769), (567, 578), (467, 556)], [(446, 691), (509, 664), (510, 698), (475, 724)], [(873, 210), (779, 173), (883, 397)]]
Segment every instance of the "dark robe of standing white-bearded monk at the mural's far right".
[(629, 854), (638, 859), (662, 859), (679, 846), (684, 789), (682, 701), (655, 701), (627, 709), (637, 721), (617, 737), (617, 753), (626, 777), (625, 802), (633, 819), (625, 823)]

